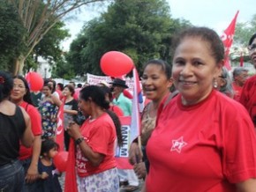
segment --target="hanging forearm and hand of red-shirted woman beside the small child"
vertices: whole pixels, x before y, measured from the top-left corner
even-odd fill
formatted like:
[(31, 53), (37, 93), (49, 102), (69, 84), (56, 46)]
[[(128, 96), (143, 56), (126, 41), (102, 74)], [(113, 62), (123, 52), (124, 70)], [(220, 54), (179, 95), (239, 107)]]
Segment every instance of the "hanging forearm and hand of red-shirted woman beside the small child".
[(38, 160), (41, 151), (41, 135), (34, 136), (34, 143), (33, 143), (33, 151), (32, 151), (32, 159), (30, 166), (26, 171), (26, 182), (33, 182), (38, 179)]

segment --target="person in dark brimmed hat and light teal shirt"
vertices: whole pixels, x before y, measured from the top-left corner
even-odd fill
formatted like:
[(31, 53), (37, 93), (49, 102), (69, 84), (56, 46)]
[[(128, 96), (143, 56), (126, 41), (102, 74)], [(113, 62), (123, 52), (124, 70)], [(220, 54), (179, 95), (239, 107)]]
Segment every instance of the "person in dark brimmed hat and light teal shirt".
[(114, 95), (113, 104), (120, 107), (124, 116), (129, 116), (132, 114), (132, 100), (129, 100), (124, 96), (124, 89), (127, 89), (128, 86), (125, 84), (125, 81), (120, 78), (115, 78), (112, 83), (112, 90)]

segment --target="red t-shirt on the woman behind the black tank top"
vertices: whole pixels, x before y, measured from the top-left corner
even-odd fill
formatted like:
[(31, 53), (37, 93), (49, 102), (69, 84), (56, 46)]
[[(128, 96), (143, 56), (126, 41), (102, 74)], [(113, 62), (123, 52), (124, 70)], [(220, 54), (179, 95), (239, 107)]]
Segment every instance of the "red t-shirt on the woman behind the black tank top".
[[(21, 102), (20, 107), (23, 107), (26, 110), (26, 113), (30, 117), (31, 129), (34, 136), (41, 135), (41, 114), (38, 112), (37, 108), (26, 103), (25, 101)], [(20, 144), (19, 148), (19, 159), (24, 160), (30, 158), (32, 155), (32, 147), (26, 148)]]

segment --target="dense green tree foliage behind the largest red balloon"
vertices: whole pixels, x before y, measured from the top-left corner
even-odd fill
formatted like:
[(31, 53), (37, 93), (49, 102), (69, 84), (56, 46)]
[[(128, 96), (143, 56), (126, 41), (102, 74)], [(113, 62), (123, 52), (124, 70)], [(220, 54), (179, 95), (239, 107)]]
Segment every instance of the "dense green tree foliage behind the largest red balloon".
[(72, 42), (67, 61), (81, 75), (102, 74), (102, 55), (117, 50), (130, 55), (140, 70), (152, 58), (170, 61), (172, 35), (189, 25), (188, 21), (171, 18), (165, 0), (116, 0), (100, 18), (84, 26)]

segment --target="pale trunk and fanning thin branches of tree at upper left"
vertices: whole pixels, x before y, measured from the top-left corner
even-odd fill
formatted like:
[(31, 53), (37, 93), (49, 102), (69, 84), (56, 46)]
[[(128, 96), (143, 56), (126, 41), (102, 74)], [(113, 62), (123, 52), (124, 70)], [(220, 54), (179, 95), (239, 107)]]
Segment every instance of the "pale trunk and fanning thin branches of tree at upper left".
[(21, 73), (27, 56), (61, 18), (82, 5), (101, 1), (104, 0), (4, 0), (16, 8), (26, 28), (26, 52), (16, 59), (14, 74)]

